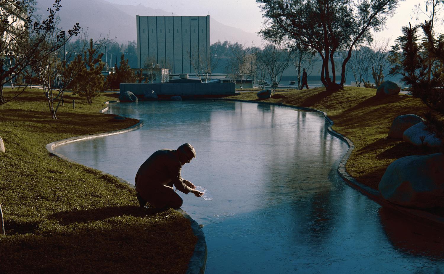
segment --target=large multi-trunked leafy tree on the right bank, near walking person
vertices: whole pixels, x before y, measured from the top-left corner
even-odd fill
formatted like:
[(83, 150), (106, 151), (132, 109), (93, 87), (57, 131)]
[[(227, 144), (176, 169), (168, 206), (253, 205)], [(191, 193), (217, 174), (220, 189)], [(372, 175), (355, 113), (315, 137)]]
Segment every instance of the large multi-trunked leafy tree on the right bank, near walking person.
[[(345, 68), (353, 48), (371, 41), (370, 30), (379, 31), (387, 16), (395, 12), (398, 0), (256, 0), (265, 12), (265, 37), (295, 40), (319, 53), (321, 81), (329, 91), (343, 89)], [(341, 82), (335, 83), (335, 52), (347, 52), (341, 65)], [(331, 70), (331, 74), (330, 74)], [(332, 80), (333, 79), (333, 80)]]

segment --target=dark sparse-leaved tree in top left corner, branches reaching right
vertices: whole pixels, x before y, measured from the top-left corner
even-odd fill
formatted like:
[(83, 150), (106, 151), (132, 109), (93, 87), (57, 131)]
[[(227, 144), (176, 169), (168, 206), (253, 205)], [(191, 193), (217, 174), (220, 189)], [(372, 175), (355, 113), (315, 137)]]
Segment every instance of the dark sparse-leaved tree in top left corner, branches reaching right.
[[(48, 37), (54, 34), (59, 18), (60, 0), (55, 0), (52, 8), (48, 8), (49, 15), (40, 19), (33, 15), (35, 0), (2, 0), (0, 2), (0, 105), (19, 96), (26, 87), (17, 89), (15, 94), (5, 99), (3, 85), (14, 75), (20, 75), (25, 69), (47, 58), (49, 54), (58, 52), (63, 45), (77, 36), (79, 24), (67, 32), (59, 31), (56, 39), (48, 44)], [(43, 54), (42, 46), (47, 49)], [(10, 66), (5, 66), (5, 57), (12, 59)]]

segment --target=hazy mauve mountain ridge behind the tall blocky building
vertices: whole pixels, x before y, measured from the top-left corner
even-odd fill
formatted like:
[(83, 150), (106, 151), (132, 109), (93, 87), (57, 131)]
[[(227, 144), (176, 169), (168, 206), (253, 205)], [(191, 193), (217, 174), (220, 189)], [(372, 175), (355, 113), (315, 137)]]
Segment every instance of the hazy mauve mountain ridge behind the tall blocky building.
[[(52, 4), (54, 4), (54, 0), (37, 1), (37, 8), (42, 13), (43, 18), (48, 14), (46, 9), (52, 7)], [(139, 16), (171, 16), (170, 12), (149, 8), (143, 4), (122, 5), (106, 0), (62, 0), (60, 4), (62, 7), (59, 11), (61, 19), (59, 28), (67, 30), (72, 28), (75, 23), (80, 23), (80, 27), (87, 30), (89, 37), (99, 39), (109, 35), (110, 39), (115, 38), (116, 42), (119, 43), (137, 40), (136, 14), (139, 14)], [(260, 37), (255, 33), (227, 26), (210, 16), (210, 44), (225, 40), (233, 43), (238, 42), (246, 46), (252, 44), (260, 46), (261, 44)]]

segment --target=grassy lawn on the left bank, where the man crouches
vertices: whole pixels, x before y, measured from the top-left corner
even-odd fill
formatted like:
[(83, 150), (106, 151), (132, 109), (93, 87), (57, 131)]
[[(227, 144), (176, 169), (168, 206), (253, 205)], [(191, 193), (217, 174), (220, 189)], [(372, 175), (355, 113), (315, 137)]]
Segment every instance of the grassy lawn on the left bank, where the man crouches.
[(1, 273), (185, 273), (196, 238), (182, 214), (142, 210), (131, 187), (45, 149), (138, 123), (99, 113), (109, 100), (65, 96), (57, 120), (38, 89), (0, 106)]

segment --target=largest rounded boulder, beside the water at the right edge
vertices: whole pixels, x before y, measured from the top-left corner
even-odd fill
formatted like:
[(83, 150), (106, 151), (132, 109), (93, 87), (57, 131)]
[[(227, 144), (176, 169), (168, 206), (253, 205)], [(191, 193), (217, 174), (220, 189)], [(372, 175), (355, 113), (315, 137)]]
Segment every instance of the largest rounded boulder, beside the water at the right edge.
[(413, 155), (391, 163), (378, 188), (391, 203), (432, 208), (444, 206), (444, 155)]

